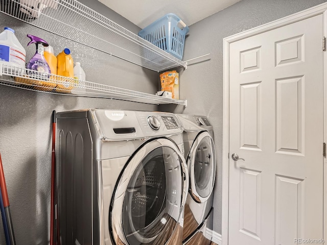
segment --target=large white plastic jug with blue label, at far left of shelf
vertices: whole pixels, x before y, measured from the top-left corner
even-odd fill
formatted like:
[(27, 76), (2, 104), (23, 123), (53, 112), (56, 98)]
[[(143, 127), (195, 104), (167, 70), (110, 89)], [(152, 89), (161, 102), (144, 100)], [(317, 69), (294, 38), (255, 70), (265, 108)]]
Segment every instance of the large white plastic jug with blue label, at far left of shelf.
[(0, 33), (0, 63), (8, 65), (8, 70), (12, 70), (13, 66), (25, 68), (26, 51), (14, 33), (9, 27)]

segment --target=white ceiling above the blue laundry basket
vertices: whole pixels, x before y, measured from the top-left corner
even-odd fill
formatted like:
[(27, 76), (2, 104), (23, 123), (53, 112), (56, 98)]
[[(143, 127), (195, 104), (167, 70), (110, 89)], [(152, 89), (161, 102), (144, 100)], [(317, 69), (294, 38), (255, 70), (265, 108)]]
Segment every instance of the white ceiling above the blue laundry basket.
[(98, 0), (143, 29), (156, 19), (176, 14), (187, 26), (213, 15), (240, 0)]

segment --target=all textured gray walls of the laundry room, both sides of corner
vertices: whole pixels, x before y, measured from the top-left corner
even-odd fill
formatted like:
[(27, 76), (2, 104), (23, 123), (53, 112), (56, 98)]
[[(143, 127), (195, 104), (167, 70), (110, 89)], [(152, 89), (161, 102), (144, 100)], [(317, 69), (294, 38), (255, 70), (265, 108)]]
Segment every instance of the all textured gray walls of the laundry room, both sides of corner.
[[(183, 60), (211, 53), (212, 59), (180, 72), (180, 96), (188, 107), (159, 106), (163, 111), (203, 114), (214, 124), (217, 148), (214, 230), (221, 233), (223, 38), (310, 8), (327, 0), (243, 0), (190, 27)], [(137, 33), (139, 28), (97, 1), (81, 1)], [(11, 27), (26, 46), (27, 34), (48, 40), (55, 54), (64, 47), (80, 61), (87, 80), (154, 93), (157, 73), (65, 40), (0, 14), (0, 30)], [(35, 47), (26, 47), (29, 60)], [(157, 106), (27, 91), (0, 86), (0, 153), (6, 175), (17, 244), (46, 244), (50, 224), (51, 113), (82, 108), (157, 110)], [(2, 223), (0, 244), (5, 244)]]

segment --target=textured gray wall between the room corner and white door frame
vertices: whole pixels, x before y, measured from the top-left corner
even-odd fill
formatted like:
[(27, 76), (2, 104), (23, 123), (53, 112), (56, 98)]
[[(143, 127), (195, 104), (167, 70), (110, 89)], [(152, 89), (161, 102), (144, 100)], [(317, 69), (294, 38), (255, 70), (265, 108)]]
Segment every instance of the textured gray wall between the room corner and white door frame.
[(159, 106), (177, 113), (202, 114), (214, 125), (217, 179), (214, 192), (214, 231), (221, 234), (222, 133), (223, 133), (223, 38), (272, 20), (305, 10), (326, 0), (243, 0), (190, 27), (183, 60), (207, 53), (211, 60), (190, 65), (180, 72), (180, 98), (188, 107)]

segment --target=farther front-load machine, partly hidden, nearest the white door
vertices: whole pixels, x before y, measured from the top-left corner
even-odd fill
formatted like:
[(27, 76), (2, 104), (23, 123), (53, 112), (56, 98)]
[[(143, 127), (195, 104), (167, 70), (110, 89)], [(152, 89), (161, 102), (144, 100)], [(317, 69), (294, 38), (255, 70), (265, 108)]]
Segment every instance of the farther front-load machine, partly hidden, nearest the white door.
[[(177, 118), (184, 130), (184, 156), (190, 174), (184, 211), (183, 244), (205, 245), (205, 241), (209, 244), (211, 240), (206, 229), (212, 230), (216, 177), (213, 127), (205, 116), (177, 114)], [(201, 235), (203, 237), (199, 241)]]

